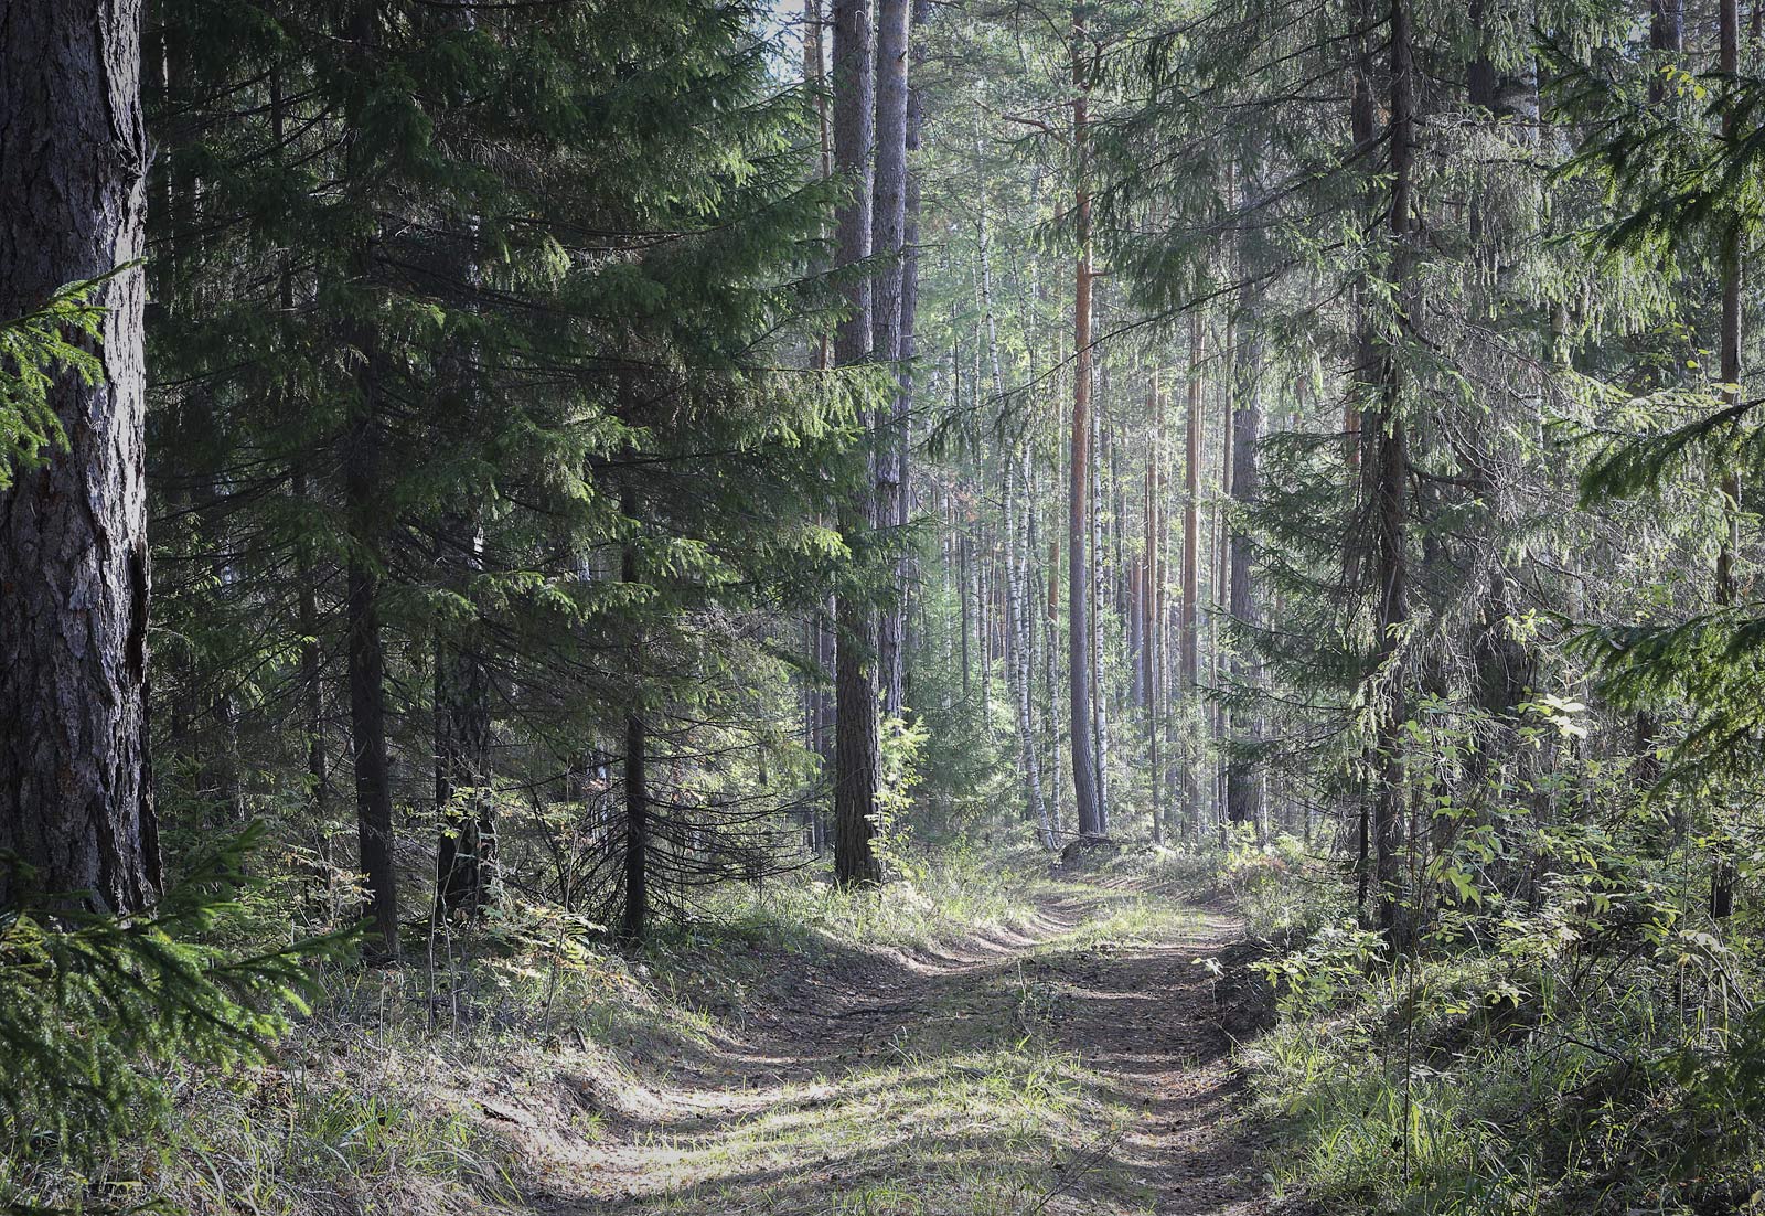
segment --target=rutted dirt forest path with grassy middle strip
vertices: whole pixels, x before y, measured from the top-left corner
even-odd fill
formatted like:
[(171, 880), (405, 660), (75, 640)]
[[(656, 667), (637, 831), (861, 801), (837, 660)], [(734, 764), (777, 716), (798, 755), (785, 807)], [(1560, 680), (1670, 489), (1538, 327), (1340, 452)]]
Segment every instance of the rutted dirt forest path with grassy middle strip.
[[(740, 1032), (628, 1094), (535, 1207), (565, 1214), (1260, 1212), (1223, 911), (1061, 884), (939, 951), (766, 960)], [(1218, 958), (1227, 980), (1200, 960)]]

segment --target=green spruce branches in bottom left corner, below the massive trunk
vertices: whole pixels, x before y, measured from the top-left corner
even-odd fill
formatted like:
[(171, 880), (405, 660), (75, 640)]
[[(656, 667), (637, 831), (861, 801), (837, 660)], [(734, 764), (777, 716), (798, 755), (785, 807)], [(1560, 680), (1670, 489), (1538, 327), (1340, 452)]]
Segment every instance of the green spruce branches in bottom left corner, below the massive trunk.
[[(32, 1209), (76, 1181), (118, 1184), (106, 1167), (125, 1140), (173, 1128), (189, 1070), (268, 1057), (307, 1013), (311, 967), (348, 935), (252, 950), (229, 941), (263, 831), (192, 858), (143, 916), (115, 918), (72, 897), (0, 914), (0, 1197)], [(44, 1190), (46, 1188), (46, 1190)]]

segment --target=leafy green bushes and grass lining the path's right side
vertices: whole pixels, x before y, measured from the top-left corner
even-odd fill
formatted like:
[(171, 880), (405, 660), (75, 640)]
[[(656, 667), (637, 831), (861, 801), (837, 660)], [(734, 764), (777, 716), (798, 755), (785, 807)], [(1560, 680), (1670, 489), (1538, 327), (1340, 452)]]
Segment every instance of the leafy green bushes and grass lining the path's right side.
[[(1597, 759), (1587, 706), (1521, 713), (1520, 782), (1437, 787), (1414, 951), (1340, 920), (1262, 964), (1281, 1022), (1246, 1061), (1281, 1168), (1380, 1211), (1728, 1211), (1765, 1181), (1756, 918), (1687, 898), (1701, 847), (1657, 817), (1686, 808)], [(1412, 775), (1481, 734), (1416, 725)]]

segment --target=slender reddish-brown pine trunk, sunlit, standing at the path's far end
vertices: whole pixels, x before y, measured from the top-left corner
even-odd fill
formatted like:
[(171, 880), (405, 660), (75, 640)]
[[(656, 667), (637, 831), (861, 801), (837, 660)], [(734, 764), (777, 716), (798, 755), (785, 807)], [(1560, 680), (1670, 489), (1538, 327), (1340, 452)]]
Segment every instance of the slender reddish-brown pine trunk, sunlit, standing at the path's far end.
[(1098, 799), (1096, 755), (1091, 724), (1091, 187), (1085, 182), (1085, 19), (1073, 9), (1073, 146), (1078, 164), (1075, 185), (1075, 224), (1078, 259), (1073, 272), (1073, 447), (1071, 482), (1066, 515), (1066, 651), (1073, 741), (1073, 796), (1078, 801), (1078, 831), (1103, 835), (1103, 807)]

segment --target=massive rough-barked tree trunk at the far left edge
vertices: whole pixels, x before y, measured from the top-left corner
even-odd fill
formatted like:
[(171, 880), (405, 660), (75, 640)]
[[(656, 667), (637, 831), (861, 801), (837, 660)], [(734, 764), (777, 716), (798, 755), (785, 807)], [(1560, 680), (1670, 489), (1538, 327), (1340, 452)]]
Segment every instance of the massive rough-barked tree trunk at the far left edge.
[[(138, 0), (21, 0), (0, 41), (0, 319), (143, 252)], [(146, 738), (143, 275), (120, 270), (94, 355), (56, 376), (67, 448), (0, 491), (0, 849), (39, 891), (132, 911), (161, 886)], [(0, 874), (0, 905), (19, 895)]]

